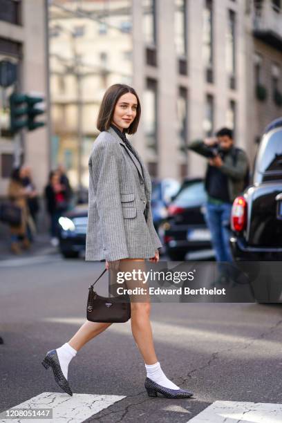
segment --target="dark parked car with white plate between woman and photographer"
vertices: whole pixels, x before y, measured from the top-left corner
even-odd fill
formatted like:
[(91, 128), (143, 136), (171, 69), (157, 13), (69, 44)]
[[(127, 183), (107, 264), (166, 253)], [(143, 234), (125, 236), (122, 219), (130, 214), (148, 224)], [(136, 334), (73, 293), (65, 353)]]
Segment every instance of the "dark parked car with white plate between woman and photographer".
[(164, 244), (170, 260), (184, 261), (188, 252), (212, 250), (211, 234), (204, 218), (206, 201), (202, 178), (186, 179), (183, 182), (168, 207), (168, 217), (162, 225)]

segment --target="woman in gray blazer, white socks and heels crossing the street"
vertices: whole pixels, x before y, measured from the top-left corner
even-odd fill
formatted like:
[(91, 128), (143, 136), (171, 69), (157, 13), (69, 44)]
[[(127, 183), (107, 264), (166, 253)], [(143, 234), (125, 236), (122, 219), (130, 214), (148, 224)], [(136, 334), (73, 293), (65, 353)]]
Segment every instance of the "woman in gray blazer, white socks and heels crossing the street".
[[(133, 88), (124, 84), (108, 88), (97, 119), (101, 132), (88, 162), (86, 260), (104, 259), (108, 270), (142, 267), (145, 259), (157, 262), (162, 246), (153, 227), (150, 176), (126, 138), (126, 133), (137, 131), (140, 113), (140, 101)], [(131, 286), (132, 282), (126, 285)], [(133, 300), (131, 296), (131, 330), (147, 370), (148, 395), (191, 397), (191, 393), (173, 384), (160, 367), (153, 346), (149, 298), (143, 302)], [(70, 395), (68, 364), (86, 342), (109, 326), (111, 323), (86, 321), (66, 344), (47, 353), (43, 364), (52, 366), (56, 382)]]

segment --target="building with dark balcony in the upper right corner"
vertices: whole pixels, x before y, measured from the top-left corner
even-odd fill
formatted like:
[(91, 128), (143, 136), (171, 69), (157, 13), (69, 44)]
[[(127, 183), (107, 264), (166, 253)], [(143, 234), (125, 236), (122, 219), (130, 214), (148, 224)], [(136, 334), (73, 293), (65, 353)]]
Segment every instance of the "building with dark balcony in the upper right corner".
[(247, 10), (247, 138), (259, 142), (265, 126), (282, 115), (282, 1), (251, 3)]

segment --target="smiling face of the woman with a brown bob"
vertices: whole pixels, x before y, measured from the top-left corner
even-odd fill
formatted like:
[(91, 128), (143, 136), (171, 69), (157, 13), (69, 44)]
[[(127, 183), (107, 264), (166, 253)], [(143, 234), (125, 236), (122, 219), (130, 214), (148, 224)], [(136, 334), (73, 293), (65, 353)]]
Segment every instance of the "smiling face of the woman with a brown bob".
[(120, 131), (129, 128), (135, 119), (137, 106), (137, 98), (132, 93), (126, 93), (118, 99), (113, 112), (113, 124), (118, 126)]

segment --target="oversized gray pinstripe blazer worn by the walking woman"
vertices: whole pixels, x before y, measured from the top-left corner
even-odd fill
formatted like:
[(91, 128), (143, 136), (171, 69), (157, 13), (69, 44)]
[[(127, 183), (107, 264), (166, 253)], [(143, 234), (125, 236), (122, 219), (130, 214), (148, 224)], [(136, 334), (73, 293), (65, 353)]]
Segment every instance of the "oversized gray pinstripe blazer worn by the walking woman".
[(147, 259), (162, 247), (153, 227), (151, 178), (135, 153), (140, 163), (111, 128), (94, 142), (88, 161), (86, 261)]

